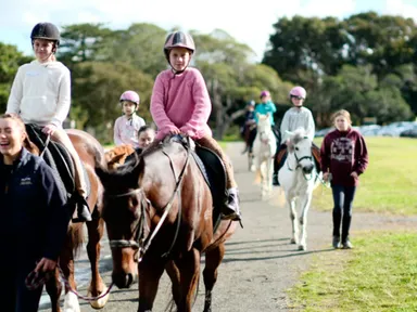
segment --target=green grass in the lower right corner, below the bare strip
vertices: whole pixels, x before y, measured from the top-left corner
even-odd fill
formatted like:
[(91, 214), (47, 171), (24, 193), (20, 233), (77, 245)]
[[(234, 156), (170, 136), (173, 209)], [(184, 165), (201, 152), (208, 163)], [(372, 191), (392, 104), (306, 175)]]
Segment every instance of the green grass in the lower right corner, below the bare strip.
[(417, 233), (357, 235), (352, 250), (317, 256), (289, 290), (304, 311), (417, 311)]

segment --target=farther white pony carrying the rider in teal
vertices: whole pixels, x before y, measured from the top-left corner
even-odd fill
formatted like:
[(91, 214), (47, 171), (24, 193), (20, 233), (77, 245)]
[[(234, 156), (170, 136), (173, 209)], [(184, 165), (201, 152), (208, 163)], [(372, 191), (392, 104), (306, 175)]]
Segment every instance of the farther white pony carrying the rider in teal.
[(257, 133), (253, 142), (253, 156), (256, 169), (256, 182), (261, 182), (262, 199), (266, 199), (273, 191), (274, 156), (277, 150), (269, 113), (256, 114)]

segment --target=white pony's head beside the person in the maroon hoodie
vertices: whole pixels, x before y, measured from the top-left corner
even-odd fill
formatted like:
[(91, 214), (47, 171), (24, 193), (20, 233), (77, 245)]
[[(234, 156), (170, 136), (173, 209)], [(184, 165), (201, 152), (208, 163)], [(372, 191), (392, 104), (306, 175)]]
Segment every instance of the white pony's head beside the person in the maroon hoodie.
[(287, 131), (287, 133), (290, 135), (287, 141), (288, 152), (294, 155), (296, 167), (301, 168), (304, 174), (312, 173), (314, 169), (312, 140), (308, 139), (303, 128), (299, 128), (294, 132)]

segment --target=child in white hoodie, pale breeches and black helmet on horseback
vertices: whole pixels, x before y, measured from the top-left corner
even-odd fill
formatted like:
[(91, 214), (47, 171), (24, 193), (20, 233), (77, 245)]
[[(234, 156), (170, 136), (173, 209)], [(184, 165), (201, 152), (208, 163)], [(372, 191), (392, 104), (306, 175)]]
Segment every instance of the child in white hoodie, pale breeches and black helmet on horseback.
[[(71, 74), (54, 53), (60, 44), (60, 31), (51, 23), (39, 23), (31, 30), (36, 61), (22, 65), (14, 78), (7, 113), (21, 116), (25, 123), (42, 127), (42, 132), (60, 142), (75, 164), (75, 195), (78, 218), (73, 222), (90, 221), (86, 200), (87, 187), (81, 161), (62, 123), (71, 106)], [(78, 195), (78, 196), (77, 196)]]

